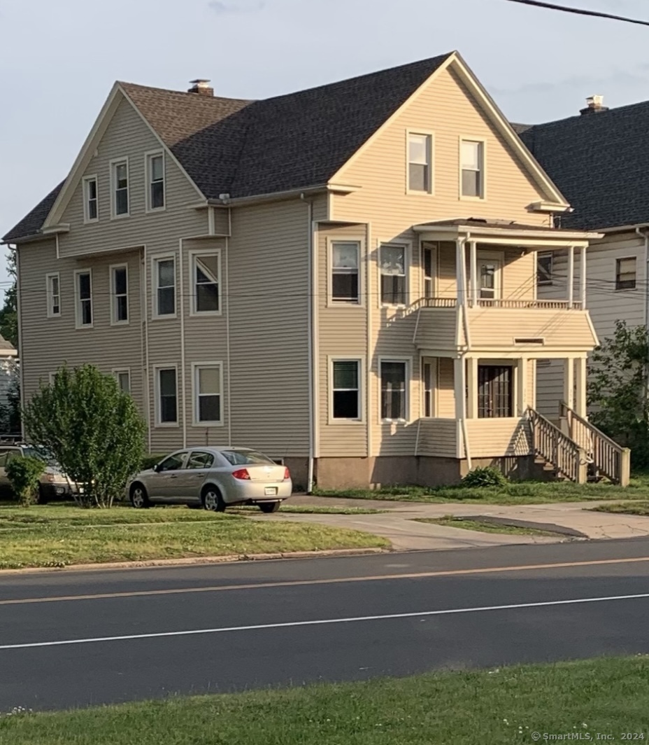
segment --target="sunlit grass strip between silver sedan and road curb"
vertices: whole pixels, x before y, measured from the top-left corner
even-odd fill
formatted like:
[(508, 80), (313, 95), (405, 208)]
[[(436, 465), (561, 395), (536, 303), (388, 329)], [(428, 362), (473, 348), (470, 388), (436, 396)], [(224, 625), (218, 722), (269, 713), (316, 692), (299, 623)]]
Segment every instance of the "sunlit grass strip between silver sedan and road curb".
[(389, 542), (356, 530), (182, 508), (0, 506), (4, 569), (370, 547)]

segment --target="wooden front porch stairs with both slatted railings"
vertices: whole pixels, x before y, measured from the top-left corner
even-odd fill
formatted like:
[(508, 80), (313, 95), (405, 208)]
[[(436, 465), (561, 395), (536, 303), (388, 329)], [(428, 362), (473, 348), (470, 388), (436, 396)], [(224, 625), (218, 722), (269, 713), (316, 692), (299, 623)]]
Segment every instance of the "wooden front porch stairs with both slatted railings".
[(584, 417), (560, 404), (559, 425), (528, 409), (532, 447), (537, 463), (555, 478), (586, 484), (607, 478), (628, 486), (630, 450), (618, 445)]

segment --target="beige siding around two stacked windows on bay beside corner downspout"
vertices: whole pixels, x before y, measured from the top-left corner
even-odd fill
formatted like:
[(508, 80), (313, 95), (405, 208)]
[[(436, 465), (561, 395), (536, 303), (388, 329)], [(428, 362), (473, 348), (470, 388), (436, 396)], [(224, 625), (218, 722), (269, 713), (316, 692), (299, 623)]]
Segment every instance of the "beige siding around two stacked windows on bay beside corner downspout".
[[(322, 457), (345, 454), (368, 454), (365, 393), (368, 375), (361, 384), (362, 422), (332, 422), (330, 402), (333, 382), (330, 379), (333, 357), (362, 360), (367, 370), (367, 312), (368, 298), (361, 291), (361, 305), (330, 302), (330, 241), (356, 240), (360, 244), (359, 276), (365, 268), (365, 225), (331, 226), (321, 224), (318, 232), (318, 346), (319, 346), (319, 455)], [(376, 383), (374, 383), (376, 385)]]

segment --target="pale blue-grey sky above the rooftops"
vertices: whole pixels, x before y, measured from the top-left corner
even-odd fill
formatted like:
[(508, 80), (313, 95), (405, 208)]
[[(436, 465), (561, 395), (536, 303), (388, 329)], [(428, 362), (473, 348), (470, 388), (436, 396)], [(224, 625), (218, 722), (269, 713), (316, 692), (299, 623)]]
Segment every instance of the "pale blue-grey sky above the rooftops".
[[(649, 0), (554, 1), (649, 20)], [(648, 27), (507, 0), (0, 0), (0, 34), (0, 235), (63, 180), (115, 80), (267, 98), (457, 49), (511, 121), (649, 99)]]

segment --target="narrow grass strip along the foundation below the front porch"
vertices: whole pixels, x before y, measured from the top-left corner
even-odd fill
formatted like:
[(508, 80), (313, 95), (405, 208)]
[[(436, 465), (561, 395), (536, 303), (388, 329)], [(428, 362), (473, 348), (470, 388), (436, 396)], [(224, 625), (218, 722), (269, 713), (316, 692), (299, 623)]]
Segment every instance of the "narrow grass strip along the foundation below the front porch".
[(323, 497), (389, 501), (464, 502), (467, 504), (548, 504), (604, 499), (649, 500), (649, 476), (636, 476), (626, 488), (615, 484), (572, 484), (568, 481), (511, 481), (505, 486), (382, 486), (379, 489), (317, 490)]

